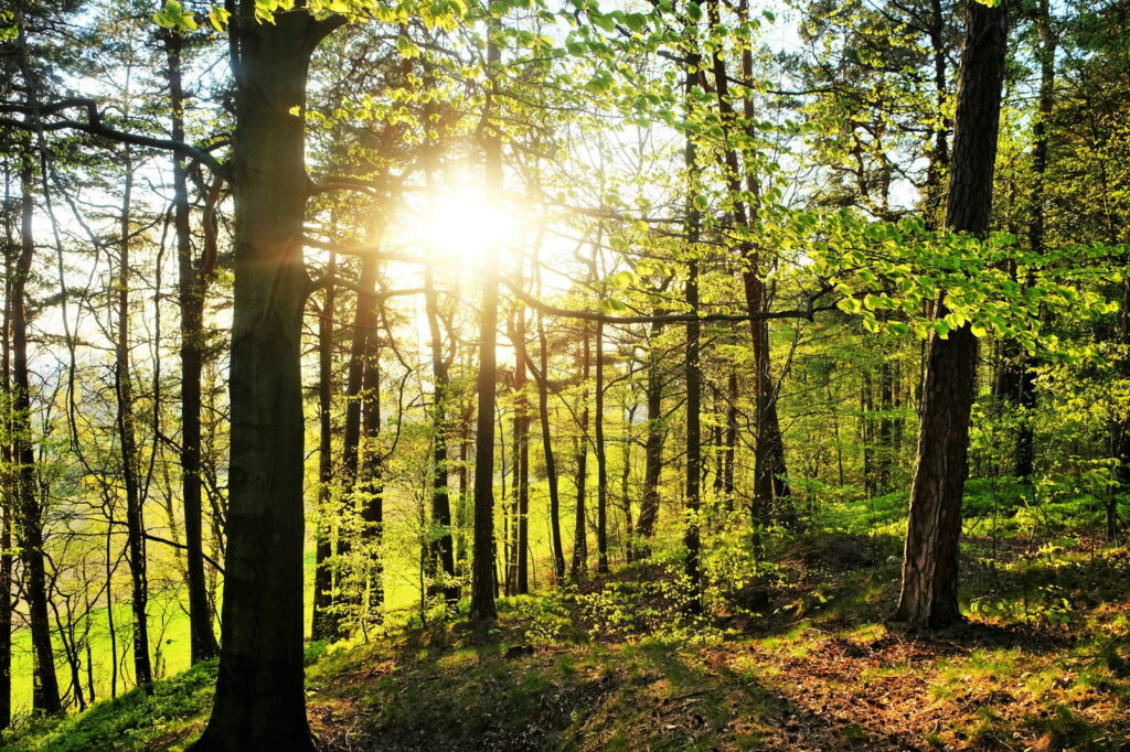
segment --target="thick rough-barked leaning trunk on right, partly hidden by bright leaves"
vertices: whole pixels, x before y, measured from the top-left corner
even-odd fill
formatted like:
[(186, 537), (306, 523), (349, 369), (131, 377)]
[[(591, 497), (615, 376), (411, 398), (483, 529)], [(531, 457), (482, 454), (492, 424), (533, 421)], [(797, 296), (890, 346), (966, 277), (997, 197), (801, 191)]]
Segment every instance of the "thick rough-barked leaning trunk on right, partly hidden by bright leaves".
[[(989, 230), (992, 210), (1007, 7), (1007, 0), (993, 8), (971, 1), (966, 10), (946, 226), (975, 236)], [(946, 314), (944, 298), (937, 312)], [(902, 592), (895, 611), (896, 620), (920, 627), (945, 627), (962, 619), (958, 539), (976, 355), (977, 340), (968, 324), (945, 339), (930, 338)]]

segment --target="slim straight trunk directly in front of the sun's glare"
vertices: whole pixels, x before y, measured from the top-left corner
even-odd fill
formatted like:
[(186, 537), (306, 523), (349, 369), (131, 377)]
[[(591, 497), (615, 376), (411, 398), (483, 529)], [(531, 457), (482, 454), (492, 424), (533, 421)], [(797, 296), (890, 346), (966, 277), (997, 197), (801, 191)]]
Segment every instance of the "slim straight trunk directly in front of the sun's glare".
[[(495, 105), (502, 51), (494, 37), (487, 43), (487, 67), (490, 81), (486, 103)], [(497, 128), (497, 126), (496, 126)], [(490, 206), (502, 199), (502, 138), (490, 132), (485, 138), (486, 190)], [(479, 314), (478, 418), (475, 436), (475, 550), (471, 561), (471, 623), (486, 627), (498, 618), (495, 610), (495, 535), (494, 535), (494, 412), (497, 365), (495, 342), (498, 327), (498, 247), (487, 251), (483, 274), (483, 311)]]

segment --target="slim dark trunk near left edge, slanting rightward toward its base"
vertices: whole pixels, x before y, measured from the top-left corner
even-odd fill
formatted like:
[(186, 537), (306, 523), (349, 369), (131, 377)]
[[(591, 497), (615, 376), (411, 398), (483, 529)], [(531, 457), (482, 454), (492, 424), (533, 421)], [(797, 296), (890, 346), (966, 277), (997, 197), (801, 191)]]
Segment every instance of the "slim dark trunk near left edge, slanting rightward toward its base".
[(12, 381), (12, 454), (16, 460), (15, 504), (16, 542), (24, 565), (24, 598), (27, 601), (32, 628), (32, 709), (59, 712), (59, 680), (55, 677), (55, 655), (51, 645), (47, 614), (47, 578), (43, 552), (43, 508), (40, 505), (32, 444), (32, 400), (27, 368), (27, 278), (35, 255), (35, 201), (33, 199), (33, 164), (31, 143), (21, 145), (20, 251), (11, 280), (11, 381)]

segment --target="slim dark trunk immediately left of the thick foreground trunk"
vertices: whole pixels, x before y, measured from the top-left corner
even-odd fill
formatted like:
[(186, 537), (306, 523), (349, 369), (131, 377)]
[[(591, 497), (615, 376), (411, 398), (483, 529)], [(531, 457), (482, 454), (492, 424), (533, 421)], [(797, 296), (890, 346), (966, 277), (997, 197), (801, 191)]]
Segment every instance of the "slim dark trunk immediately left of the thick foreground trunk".
[[(184, 140), (184, 87), (181, 52), (184, 37), (163, 35), (168, 63), (168, 98), (174, 141)], [(200, 373), (205, 359), (203, 306), (208, 279), (216, 263), (215, 247), (206, 244), (199, 264), (192, 257), (188, 170), (184, 158), (173, 155), (173, 228), (181, 308), (181, 490), (184, 506), (184, 553), (189, 586), (190, 659), (214, 658), (219, 653), (205, 580), (203, 525), (200, 483)], [(205, 218), (205, 221), (210, 221)], [(210, 244), (211, 246), (215, 243)]]

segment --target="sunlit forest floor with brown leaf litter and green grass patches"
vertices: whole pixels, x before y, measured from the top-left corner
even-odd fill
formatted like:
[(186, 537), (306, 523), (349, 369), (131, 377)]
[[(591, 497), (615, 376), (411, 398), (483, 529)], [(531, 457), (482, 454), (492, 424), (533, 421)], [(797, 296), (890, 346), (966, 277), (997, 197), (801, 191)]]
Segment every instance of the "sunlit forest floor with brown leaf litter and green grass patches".
[[(688, 623), (678, 562), (504, 598), (497, 629), (389, 628), (307, 653), (311, 724), (349, 750), (1130, 749), (1130, 550), (1101, 540), (967, 539), (967, 623), (886, 622), (899, 541), (820, 533), (758, 588)], [(174, 676), (12, 750), (180, 749), (215, 667)]]

